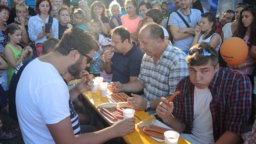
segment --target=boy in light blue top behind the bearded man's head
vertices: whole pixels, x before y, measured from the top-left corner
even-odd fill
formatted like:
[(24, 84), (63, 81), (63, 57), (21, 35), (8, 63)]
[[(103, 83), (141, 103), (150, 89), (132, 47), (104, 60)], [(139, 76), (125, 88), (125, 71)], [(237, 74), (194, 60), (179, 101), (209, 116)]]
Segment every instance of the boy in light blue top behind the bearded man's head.
[(84, 20), (84, 12), (83, 12), (83, 10), (76, 9), (74, 11), (73, 18), (74, 18), (74, 23), (76, 24), (76, 27), (78, 27), (80, 29), (84, 29), (87, 32), (89, 31), (88, 28), (82, 24), (82, 22)]

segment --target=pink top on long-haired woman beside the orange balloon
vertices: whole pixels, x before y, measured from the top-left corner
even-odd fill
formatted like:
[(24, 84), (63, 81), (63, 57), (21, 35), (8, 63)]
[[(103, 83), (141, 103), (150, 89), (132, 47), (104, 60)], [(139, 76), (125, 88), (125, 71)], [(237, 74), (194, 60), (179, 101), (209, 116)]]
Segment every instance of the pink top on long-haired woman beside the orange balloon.
[[(245, 60), (243, 61), (243, 63), (246, 63), (246, 62), (250, 62), (250, 61), (253, 61), (253, 60), (255, 60), (254, 58), (252, 58), (251, 56), (250, 56), (250, 42), (248, 42), (248, 40), (249, 40), (249, 37), (250, 37), (250, 35), (245, 35), (244, 36), (244, 41), (245, 41), (245, 43), (247, 43), (247, 45), (248, 45), (248, 55), (247, 55), (247, 57), (245, 58)], [(241, 72), (244, 72), (245, 74), (247, 74), (247, 75), (252, 75), (253, 74), (253, 68), (254, 68), (254, 66), (248, 66), (248, 67), (245, 67), (245, 68), (243, 68), (243, 69), (239, 69), (239, 71), (241, 71)]]

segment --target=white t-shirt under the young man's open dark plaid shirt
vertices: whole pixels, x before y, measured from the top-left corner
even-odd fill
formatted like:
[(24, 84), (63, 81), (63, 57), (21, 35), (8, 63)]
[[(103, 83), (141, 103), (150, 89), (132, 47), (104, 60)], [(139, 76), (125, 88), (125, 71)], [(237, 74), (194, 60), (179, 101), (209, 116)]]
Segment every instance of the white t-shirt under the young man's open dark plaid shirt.
[(210, 111), (210, 102), (212, 94), (210, 90), (198, 89), (195, 86), (194, 92), (194, 116), (192, 134), (204, 142), (204, 144), (215, 144), (212, 128), (212, 114)]

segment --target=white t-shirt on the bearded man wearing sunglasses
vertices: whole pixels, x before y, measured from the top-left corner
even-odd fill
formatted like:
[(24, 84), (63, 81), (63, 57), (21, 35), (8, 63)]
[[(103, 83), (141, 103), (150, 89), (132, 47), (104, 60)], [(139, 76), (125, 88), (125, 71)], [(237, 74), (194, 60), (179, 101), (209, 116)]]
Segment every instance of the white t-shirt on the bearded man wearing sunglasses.
[(36, 58), (23, 70), (16, 90), (17, 116), (26, 144), (54, 144), (46, 124), (70, 116), (69, 90), (57, 69)]

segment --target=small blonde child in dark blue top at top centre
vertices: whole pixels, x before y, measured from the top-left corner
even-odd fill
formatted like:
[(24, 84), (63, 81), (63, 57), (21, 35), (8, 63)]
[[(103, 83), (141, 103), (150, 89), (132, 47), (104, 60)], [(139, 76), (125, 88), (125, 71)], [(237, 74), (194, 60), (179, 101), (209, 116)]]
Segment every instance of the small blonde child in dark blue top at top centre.
[(119, 17), (121, 6), (116, 2), (116, 0), (113, 0), (109, 5), (109, 11), (111, 13), (109, 20), (111, 29), (115, 29), (117, 26), (122, 26), (121, 17)]

